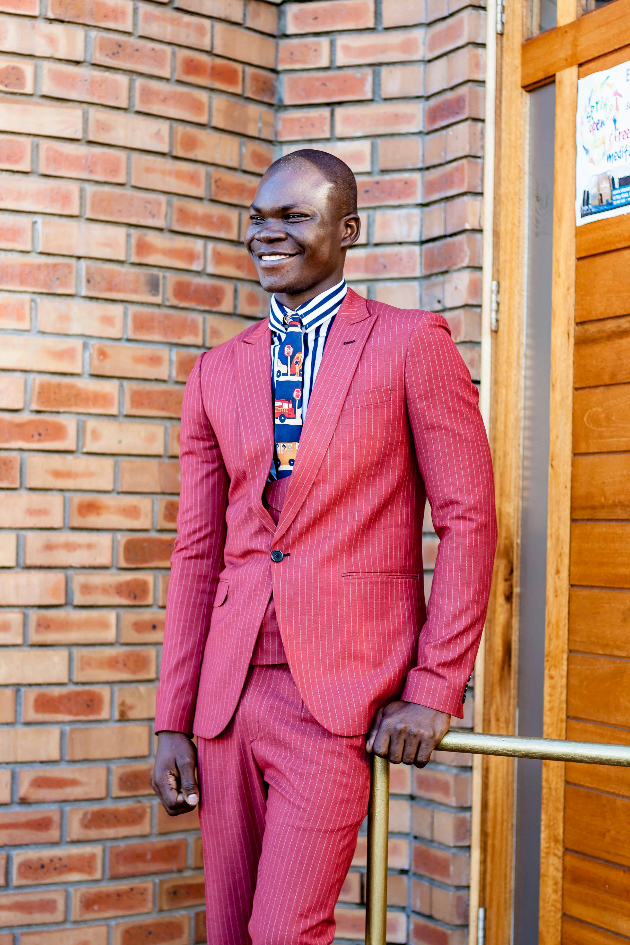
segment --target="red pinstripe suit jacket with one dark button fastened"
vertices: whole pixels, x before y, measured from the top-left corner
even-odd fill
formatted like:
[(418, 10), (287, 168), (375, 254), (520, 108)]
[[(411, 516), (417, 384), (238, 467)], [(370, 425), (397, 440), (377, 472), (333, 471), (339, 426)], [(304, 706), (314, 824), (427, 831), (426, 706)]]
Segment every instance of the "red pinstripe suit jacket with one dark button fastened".
[[(396, 697), (461, 716), (496, 521), (478, 394), (447, 321), (349, 290), (278, 525), (262, 501), (270, 343), (264, 319), (205, 352), (186, 385), (156, 730), (225, 728), (271, 593), (299, 693), (326, 729), (366, 732)], [(440, 539), (428, 608), (427, 498)]]

